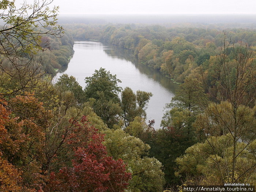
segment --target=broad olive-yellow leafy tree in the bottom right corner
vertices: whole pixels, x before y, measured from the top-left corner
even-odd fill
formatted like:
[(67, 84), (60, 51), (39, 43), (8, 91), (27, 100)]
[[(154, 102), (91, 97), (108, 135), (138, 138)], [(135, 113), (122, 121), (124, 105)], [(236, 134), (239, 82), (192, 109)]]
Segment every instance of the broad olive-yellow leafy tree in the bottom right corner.
[[(236, 183), (255, 185), (255, 140), (247, 144), (237, 142)], [(187, 185), (223, 185), (232, 182), (233, 137), (230, 133), (210, 136), (202, 143), (187, 148), (185, 155), (176, 159), (178, 172), (186, 175)]]

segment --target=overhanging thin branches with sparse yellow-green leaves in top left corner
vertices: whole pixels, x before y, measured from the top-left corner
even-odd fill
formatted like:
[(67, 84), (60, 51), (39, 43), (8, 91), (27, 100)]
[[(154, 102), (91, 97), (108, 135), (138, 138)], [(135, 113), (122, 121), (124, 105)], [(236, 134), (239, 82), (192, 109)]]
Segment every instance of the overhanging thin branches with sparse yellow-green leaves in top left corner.
[[(62, 27), (57, 25), (59, 7), (49, 8), (52, 0), (35, 1), (16, 7), (12, 0), (0, 2), (0, 19), (4, 26), (0, 29), (0, 54), (7, 57), (22, 57), (26, 53), (36, 53), (47, 47), (41, 45), (43, 34), (60, 35)], [(41, 28), (40, 28), (41, 27)]]

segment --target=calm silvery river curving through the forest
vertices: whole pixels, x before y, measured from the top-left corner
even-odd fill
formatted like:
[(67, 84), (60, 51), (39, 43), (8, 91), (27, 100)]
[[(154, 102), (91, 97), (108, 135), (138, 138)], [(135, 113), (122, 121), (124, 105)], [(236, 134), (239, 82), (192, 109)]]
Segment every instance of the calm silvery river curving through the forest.
[(62, 74), (74, 76), (84, 88), (84, 78), (91, 76), (95, 69), (105, 68), (111, 74), (116, 74), (122, 81), (118, 86), (130, 87), (135, 93), (137, 90), (153, 93), (147, 112), (147, 121), (155, 120), (154, 127), (160, 128), (163, 109), (174, 96), (178, 84), (155, 71), (153, 68), (138, 64), (135, 57), (127, 50), (103, 45), (99, 42), (79, 41), (74, 44), (74, 56), (68, 66), (57, 73), (56, 78)]

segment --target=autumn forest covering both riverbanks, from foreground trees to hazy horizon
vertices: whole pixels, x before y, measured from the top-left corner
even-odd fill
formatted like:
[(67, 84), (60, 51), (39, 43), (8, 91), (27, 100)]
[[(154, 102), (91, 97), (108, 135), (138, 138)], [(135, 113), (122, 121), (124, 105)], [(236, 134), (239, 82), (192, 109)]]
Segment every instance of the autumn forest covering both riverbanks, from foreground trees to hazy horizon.
[[(255, 29), (60, 26), (48, 6), (0, 1), (0, 191), (256, 184)], [(52, 82), (85, 40), (127, 49), (181, 83), (161, 128), (145, 120), (152, 93), (122, 89), (104, 68), (84, 88), (67, 74)]]

